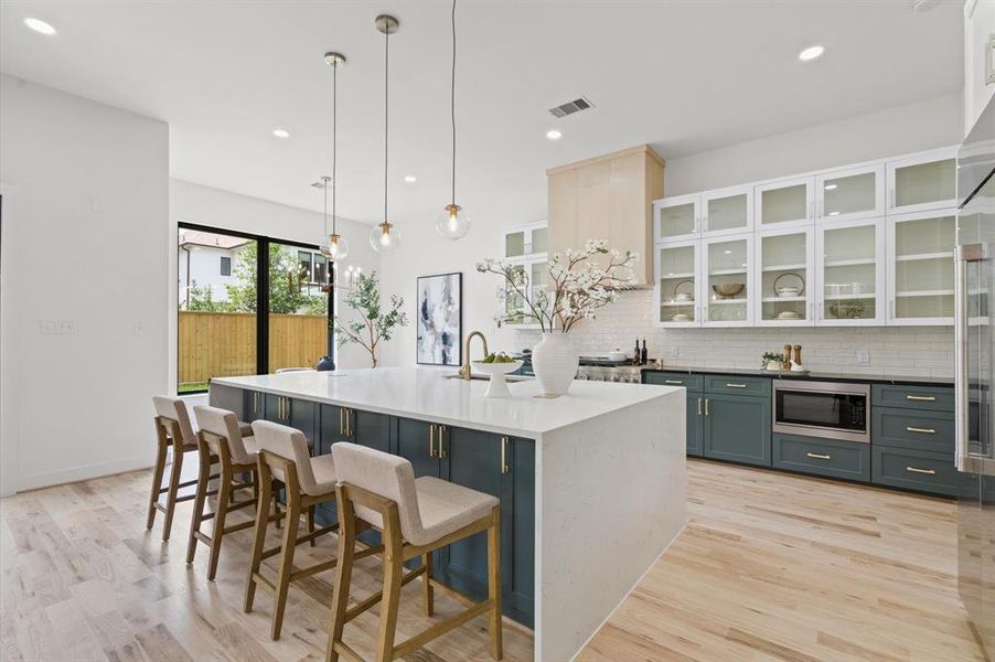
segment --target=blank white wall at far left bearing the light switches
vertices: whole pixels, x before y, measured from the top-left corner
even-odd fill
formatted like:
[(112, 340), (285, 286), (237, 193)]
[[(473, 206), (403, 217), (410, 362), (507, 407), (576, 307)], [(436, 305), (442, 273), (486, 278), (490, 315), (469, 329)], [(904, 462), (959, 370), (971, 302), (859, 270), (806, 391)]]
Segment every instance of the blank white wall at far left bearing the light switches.
[(168, 392), (169, 128), (0, 75), (0, 143), (2, 461), (13, 431), (19, 490), (147, 467)]

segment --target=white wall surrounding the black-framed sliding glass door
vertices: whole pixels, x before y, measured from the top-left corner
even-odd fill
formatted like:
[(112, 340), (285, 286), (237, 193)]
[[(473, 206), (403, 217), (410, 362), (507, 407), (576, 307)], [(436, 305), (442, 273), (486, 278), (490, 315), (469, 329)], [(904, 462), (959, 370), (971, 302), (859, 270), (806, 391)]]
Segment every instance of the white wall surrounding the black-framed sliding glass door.
[[(314, 178), (318, 179), (318, 175)], [(301, 185), (308, 185), (307, 182)], [(314, 195), (320, 195), (315, 190)], [(249, 197), (221, 189), (202, 186), (182, 180), (170, 180), (170, 221), (169, 221), (169, 268), (171, 292), (168, 301), (176, 301), (178, 264), (176, 264), (176, 223), (184, 221), (197, 225), (235, 229), (279, 239), (318, 244), (324, 233), (321, 214), (300, 210), (258, 197)], [(379, 256), (374, 253), (366, 241), (370, 227), (353, 221), (338, 222), (339, 234), (349, 241), (349, 255), (340, 265), (356, 265), (368, 274), (379, 266)], [(351, 311), (340, 302), (339, 311), (343, 320), (352, 319)], [(170, 384), (176, 388), (176, 314), (175, 307), (169, 307), (170, 339)], [(368, 355), (355, 344), (339, 348), (340, 367), (367, 367)]]

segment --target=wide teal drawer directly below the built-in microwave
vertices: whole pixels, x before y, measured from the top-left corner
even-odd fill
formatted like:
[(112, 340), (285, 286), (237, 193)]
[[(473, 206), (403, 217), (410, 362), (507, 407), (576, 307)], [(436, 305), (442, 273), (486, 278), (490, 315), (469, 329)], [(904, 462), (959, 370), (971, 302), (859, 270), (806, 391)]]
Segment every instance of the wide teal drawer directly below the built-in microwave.
[(869, 444), (774, 435), (772, 452), (772, 465), (779, 469), (848, 480), (870, 480)]

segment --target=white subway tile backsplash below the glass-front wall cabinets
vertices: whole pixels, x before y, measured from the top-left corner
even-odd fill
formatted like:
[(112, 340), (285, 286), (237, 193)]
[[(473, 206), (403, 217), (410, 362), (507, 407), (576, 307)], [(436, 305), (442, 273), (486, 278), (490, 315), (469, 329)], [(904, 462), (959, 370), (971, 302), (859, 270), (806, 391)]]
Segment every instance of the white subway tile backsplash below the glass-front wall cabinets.
[[(520, 349), (539, 341), (538, 331), (516, 335)], [(805, 367), (816, 372), (953, 376), (953, 329), (949, 327), (656, 329), (651, 290), (623, 292), (570, 337), (581, 354), (616, 348), (631, 352), (635, 339), (645, 338), (650, 356), (672, 366), (760, 367), (763, 352), (780, 352), (790, 343), (802, 345)], [(676, 359), (671, 357), (674, 345), (680, 353)], [(866, 351), (870, 362), (857, 363), (857, 351)]]

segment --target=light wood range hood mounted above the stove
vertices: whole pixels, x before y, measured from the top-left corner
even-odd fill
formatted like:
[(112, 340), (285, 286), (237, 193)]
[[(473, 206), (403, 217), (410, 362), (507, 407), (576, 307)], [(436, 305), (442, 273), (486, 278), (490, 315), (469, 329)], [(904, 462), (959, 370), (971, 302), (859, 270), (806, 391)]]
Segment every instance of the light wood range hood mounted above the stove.
[(634, 250), (635, 286), (653, 284), (653, 201), (663, 196), (665, 162), (649, 145), (546, 171), (549, 250), (606, 239)]

